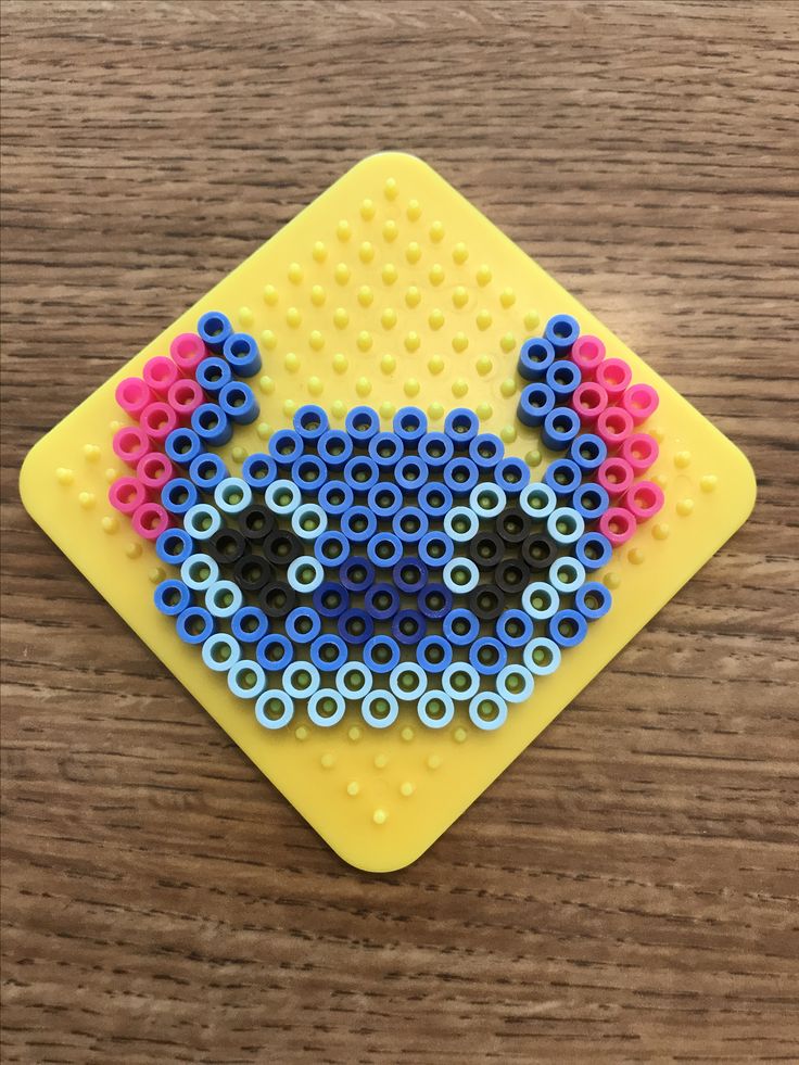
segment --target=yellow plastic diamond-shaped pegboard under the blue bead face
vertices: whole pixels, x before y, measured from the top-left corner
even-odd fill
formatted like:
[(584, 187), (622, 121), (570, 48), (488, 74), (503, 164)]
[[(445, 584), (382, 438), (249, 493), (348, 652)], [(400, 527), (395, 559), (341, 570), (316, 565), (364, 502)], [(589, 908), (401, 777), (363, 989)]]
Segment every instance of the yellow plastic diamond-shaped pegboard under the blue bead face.
[[(599, 574), (611, 612), (503, 728), (478, 731), (459, 713), (430, 732), (406, 708), (380, 732), (356, 712), (332, 728), (300, 714), (288, 731), (266, 732), (154, 609), (164, 569), (106, 497), (123, 472), (114, 390), (210, 309), (253, 333), (264, 357), (261, 420), (221, 449), (233, 471), (303, 403), (325, 406), (339, 428), (357, 404), (390, 428), (413, 403), (433, 429), (470, 406), (482, 431), (541, 474), (537, 431), (515, 417), (516, 360), (556, 313), (574, 315), (635, 381), (657, 388), (646, 428), (660, 443), (651, 473), (665, 507)], [(48, 535), (333, 850), (370, 871), (418, 858), (746, 520), (754, 491), (745, 456), (686, 400), (434, 170), (396, 153), (353, 167), (39, 441), (21, 474), (24, 504)]]

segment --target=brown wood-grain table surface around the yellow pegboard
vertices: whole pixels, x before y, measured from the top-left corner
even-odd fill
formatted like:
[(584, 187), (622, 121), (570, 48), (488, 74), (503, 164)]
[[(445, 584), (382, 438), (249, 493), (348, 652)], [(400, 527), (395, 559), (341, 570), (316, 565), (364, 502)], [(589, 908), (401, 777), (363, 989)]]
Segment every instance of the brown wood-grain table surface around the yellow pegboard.
[[(11, 2), (2, 34), (3, 1061), (796, 1061), (799, 8)], [(427, 854), (375, 876), (16, 478), (389, 147), (712, 418), (760, 495)]]

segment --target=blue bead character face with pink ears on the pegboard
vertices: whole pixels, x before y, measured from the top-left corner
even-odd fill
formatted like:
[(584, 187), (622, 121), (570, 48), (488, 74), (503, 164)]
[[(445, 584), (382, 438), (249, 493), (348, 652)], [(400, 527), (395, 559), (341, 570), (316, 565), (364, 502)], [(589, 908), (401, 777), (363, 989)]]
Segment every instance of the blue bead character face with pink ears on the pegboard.
[(522, 345), (517, 417), (553, 453), (538, 481), (467, 408), (431, 431), (405, 407), (381, 431), (368, 406), (338, 430), (315, 405), (236, 477), (213, 448), (257, 417), (241, 379), (261, 354), (211, 312), (118, 385), (135, 474), (109, 497), (174, 568), (157, 609), (266, 730), (304, 708), (319, 727), (407, 710), (494, 731), (610, 610), (596, 575), (663, 503), (642, 480), (657, 393), (605, 354), (569, 315)]

